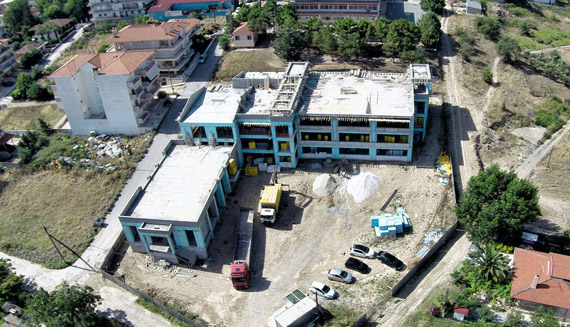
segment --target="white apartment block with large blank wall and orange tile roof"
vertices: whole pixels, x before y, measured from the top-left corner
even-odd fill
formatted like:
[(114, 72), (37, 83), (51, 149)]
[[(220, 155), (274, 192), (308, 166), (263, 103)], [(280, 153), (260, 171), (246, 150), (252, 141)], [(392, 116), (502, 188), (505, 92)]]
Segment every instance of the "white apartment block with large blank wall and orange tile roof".
[(82, 54), (49, 78), (59, 110), (74, 134), (91, 131), (136, 135), (148, 131), (154, 94), (160, 88), (153, 51)]

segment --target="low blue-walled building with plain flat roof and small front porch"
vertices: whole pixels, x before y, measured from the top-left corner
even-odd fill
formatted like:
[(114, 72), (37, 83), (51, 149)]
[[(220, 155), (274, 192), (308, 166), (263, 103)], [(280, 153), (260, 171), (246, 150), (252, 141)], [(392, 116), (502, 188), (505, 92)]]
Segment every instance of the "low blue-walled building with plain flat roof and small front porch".
[(208, 244), (226, 206), (225, 195), (232, 190), (227, 167), (235, 157), (235, 146), (171, 141), (163, 154), (161, 164), (136, 190), (119, 220), (133, 251), (193, 265), (196, 259), (208, 257)]

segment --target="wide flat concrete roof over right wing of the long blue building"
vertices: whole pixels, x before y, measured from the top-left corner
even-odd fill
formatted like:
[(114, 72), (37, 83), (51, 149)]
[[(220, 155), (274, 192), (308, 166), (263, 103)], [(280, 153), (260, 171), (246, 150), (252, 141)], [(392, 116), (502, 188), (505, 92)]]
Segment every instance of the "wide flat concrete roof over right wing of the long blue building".
[(411, 117), (414, 88), (406, 73), (312, 73), (301, 99), (301, 114)]

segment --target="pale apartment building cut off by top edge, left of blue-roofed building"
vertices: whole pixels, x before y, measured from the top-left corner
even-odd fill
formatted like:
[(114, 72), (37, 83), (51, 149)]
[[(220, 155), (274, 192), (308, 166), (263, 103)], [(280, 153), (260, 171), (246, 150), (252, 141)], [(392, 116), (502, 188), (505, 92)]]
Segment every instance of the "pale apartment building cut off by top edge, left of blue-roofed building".
[(144, 15), (154, 0), (89, 0), (89, 13), (95, 24), (106, 20), (134, 21)]

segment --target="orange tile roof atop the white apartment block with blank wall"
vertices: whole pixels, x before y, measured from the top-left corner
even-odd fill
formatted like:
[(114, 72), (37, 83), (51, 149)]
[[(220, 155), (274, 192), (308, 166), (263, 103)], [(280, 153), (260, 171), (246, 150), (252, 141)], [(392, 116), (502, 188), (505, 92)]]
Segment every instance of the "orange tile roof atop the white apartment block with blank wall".
[(75, 56), (49, 75), (49, 78), (73, 76), (86, 63), (97, 68), (101, 75), (130, 74), (153, 55), (154, 51), (104, 52)]

